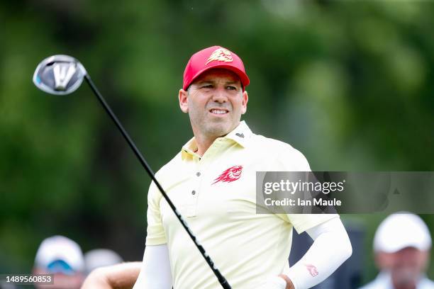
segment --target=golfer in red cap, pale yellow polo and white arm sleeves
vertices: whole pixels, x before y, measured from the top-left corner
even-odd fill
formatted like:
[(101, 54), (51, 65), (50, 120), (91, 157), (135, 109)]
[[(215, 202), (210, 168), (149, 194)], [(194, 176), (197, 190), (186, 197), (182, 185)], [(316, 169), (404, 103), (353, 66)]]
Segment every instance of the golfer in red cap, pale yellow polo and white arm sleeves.
[[(290, 145), (255, 135), (240, 122), (249, 82), (240, 57), (226, 48), (208, 47), (191, 57), (179, 106), (189, 114), (194, 137), (156, 177), (232, 288), (310, 288), (351, 255), (351, 244), (338, 215), (256, 214), (256, 171), (310, 168)], [(289, 268), (292, 227), (315, 241)], [(106, 280), (107, 274), (96, 276)], [(134, 288), (172, 285), (221, 287), (152, 183), (145, 254)]]

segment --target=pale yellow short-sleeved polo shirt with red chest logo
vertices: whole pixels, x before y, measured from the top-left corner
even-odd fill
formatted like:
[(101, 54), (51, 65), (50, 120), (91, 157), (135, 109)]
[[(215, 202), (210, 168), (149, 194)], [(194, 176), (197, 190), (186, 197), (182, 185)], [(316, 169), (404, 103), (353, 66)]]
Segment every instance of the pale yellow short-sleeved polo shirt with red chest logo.
[[(234, 289), (286, 273), (297, 232), (338, 215), (256, 214), (256, 171), (310, 171), (301, 152), (255, 135), (240, 122), (203, 157), (191, 139), (157, 172), (167, 195)], [(167, 244), (174, 289), (221, 288), (154, 183), (148, 193), (146, 245)]]

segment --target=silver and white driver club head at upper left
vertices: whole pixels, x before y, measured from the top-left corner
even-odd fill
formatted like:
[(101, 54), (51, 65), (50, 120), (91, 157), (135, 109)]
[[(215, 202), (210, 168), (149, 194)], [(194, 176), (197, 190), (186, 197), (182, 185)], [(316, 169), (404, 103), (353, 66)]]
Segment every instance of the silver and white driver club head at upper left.
[(36, 67), (33, 83), (48, 94), (71, 94), (79, 88), (86, 74), (86, 69), (74, 57), (53, 55)]

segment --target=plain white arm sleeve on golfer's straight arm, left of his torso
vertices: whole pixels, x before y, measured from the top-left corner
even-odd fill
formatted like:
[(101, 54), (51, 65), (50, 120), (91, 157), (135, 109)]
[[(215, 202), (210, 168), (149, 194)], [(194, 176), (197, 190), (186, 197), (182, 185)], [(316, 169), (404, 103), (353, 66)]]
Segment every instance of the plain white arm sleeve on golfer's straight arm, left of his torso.
[(146, 246), (142, 268), (133, 289), (171, 289), (169, 249), (167, 244)]

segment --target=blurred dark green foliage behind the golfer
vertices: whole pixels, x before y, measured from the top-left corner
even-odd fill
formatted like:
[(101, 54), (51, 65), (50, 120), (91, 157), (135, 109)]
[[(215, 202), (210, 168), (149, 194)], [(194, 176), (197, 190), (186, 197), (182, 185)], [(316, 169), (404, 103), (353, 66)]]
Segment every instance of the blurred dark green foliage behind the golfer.
[[(211, 45), (245, 62), (252, 130), (313, 170), (434, 171), (433, 27), (433, 1), (1, 1), (0, 271), (30, 271), (53, 234), (143, 254), (150, 180), (86, 85), (33, 86), (45, 57), (84, 64), (155, 171), (192, 136), (177, 92)], [(385, 215), (345, 217), (367, 229), (367, 280)]]

